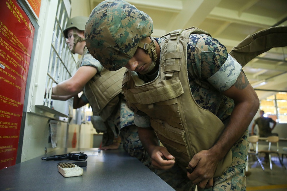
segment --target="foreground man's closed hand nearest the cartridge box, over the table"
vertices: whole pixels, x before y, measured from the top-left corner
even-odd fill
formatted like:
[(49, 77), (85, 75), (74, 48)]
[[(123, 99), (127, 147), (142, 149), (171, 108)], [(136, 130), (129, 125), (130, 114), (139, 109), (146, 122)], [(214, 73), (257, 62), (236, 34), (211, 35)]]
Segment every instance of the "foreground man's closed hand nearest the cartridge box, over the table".
[(156, 146), (151, 153), (152, 166), (157, 169), (168, 170), (175, 164), (175, 158), (166, 147)]

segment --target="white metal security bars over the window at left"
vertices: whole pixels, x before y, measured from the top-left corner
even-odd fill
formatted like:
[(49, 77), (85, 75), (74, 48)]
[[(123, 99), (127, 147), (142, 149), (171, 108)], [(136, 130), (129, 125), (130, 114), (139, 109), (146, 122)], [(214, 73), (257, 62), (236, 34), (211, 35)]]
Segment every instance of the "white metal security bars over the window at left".
[(71, 54), (69, 46), (63, 34), (63, 29), (67, 24), (69, 15), (63, 0), (58, 2), (57, 14), (55, 18), (53, 38), (50, 50), (50, 59), (46, 77), (46, 96), (44, 106), (53, 108), (51, 100), (52, 87), (72, 76), (76, 67), (76, 61)]

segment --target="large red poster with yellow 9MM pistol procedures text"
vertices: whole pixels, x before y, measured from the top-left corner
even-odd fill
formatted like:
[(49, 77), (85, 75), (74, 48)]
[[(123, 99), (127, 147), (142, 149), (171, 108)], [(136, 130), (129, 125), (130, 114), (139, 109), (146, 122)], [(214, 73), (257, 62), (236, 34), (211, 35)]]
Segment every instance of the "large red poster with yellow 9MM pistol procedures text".
[(0, 169), (16, 164), (34, 27), (16, 0), (0, 1)]

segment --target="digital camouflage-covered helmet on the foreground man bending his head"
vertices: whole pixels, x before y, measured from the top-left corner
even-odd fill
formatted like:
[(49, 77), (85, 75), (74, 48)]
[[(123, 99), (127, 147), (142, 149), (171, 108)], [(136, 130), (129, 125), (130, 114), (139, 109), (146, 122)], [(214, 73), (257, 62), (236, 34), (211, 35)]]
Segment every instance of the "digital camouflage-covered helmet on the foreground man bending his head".
[(86, 23), (86, 46), (104, 68), (115, 71), (127, 64), (152, 30), (152, 19), (143, 11), (122, 0), (106, 0)]

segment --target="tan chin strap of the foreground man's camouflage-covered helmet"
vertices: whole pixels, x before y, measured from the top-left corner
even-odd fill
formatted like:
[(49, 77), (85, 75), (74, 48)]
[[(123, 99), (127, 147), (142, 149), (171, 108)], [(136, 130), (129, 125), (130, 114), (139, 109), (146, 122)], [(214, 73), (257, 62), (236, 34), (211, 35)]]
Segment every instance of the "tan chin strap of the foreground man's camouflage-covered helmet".
[(139, 72), (141, 74), (147, 74), (150, 71), (152, 71), (152, 69), (154, 69), (155, 67), (156, 59), (158, 58), (156, 54), (156, 43), (154, 42), (154, 38), (150, 36), (150, 40), (152, 40), (150, 44), (139, 42), (139, 45), (138, 45), (140, 48), (146, 50), (146, 53), (150, 55), (150, 58), (152, 58), (152, 64), (150, 65), (150, 68), (148, 68), (148, 71)]

